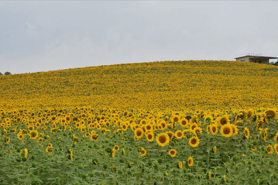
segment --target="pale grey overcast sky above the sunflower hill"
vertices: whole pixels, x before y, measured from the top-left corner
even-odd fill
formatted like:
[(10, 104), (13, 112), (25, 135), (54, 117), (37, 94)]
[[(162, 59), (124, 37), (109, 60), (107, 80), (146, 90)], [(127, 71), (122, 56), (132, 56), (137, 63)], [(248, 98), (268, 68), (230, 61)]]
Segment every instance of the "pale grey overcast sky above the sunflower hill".
[(0, 1), (0, 72), (278, 56), (277, 10), (278, 1)]

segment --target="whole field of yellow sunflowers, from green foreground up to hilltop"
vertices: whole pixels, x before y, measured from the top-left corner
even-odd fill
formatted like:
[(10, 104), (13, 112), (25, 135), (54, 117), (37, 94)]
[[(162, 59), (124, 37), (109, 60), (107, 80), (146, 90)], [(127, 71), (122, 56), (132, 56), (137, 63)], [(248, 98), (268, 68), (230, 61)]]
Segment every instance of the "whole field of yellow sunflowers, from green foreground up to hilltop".
[(147, 62), (0, 84), (0, 184), (278, 182), (277, 66)]

